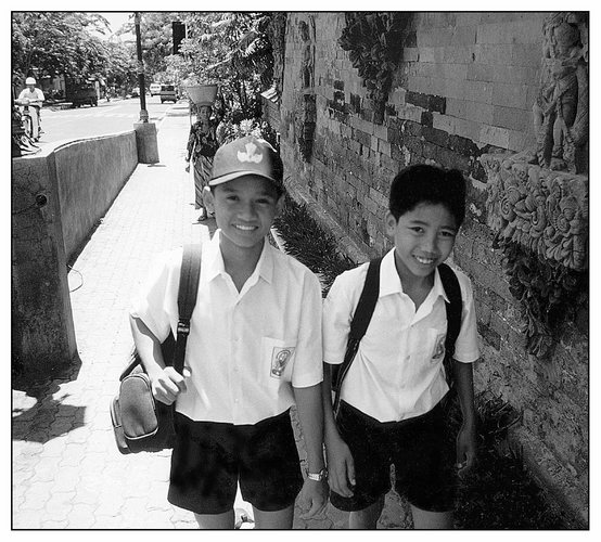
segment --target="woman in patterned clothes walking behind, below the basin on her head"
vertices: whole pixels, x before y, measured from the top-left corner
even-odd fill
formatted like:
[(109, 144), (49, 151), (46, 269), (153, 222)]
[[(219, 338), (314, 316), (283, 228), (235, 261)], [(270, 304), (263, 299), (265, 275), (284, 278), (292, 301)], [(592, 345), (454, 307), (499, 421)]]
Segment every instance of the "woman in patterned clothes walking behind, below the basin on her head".
[(203, 204), (203, 189), (208, 186), (210, 171), (213, 169), (213, 157), (217, 152), (217, 125), (219, 120), (213, 116), (213, 105), (209, 103), (197, 104), (199, 118), (190, 127), (188, 138), (186, 171), (190, 171), (190, 160), (194, 172), (194, 208), (200, 209), (195, 222), (202, 222), (208, 217)]

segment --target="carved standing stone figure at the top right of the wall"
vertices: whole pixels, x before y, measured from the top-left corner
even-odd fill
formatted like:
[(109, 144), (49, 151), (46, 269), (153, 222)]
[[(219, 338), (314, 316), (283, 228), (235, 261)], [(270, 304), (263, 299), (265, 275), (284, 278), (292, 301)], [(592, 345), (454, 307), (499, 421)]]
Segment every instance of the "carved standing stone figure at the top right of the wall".
[(588, 170), (588, 16), (560, 12), (542, 28), (539, 92), (533, 105), (536, 149), (530, 164)]

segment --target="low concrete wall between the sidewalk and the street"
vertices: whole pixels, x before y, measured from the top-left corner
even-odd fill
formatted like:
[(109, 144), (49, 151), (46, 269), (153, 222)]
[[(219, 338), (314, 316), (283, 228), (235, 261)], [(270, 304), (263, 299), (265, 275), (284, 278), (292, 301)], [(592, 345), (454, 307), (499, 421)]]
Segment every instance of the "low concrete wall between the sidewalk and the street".
[(47, 375), (76, 358), (67, 261), (137, 163), (133, 131), (12, 159), (12, 363), (17, 373)]

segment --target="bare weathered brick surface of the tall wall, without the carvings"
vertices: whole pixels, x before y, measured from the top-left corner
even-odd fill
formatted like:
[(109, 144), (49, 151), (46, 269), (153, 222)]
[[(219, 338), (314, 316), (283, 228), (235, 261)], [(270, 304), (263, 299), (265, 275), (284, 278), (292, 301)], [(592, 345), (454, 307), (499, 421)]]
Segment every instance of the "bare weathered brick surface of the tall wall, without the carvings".
[[(550, 359), (525, 348), (520, 305), (486, 225), (484, 153), (534, 142), (547, 13), (415, 13), (406, 29), (384, 118), (337, 44), (344, 13), (293, 13), (286, 22), (281, 153), (291, 186), (334, 219), (366, 255), (391, 247), (387, 194), (402, 167), (433, 160), (469, 179), (468, 216), (453, 260), (472, 279), (483, 363), (477, 390), (523, 412), (521, 428), (568, 486), (588, 496), (588, 321), (565, 323)], [(295, 189), (295, 190), (296, 190)], [(561, 473), (559, 473), (561, 470)], [(552, 481), (552, 480), (551, 480)]]

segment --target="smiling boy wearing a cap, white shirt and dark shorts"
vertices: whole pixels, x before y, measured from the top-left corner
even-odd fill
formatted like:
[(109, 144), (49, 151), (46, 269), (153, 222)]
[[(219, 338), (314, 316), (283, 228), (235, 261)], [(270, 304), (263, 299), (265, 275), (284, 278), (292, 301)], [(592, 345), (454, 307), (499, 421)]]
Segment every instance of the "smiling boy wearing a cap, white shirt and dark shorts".
[[(219, 230), (203, 246), (184, 375), (165, 367), (159, 344), (177, 327), (181, 249), (150, 273), (131, 311), (154, 397), (176, 401), (168, 500), (201, 528), (233, 528), (236, 486), (259, 529), (292, 527), (327, 503), (322, 451), (321, 288), (305, 266), (266, 241), (283, 204), (282, 163), (264, 140), (221, 146), (205, 204)], [(307, 449), (299, 469), (290, 408)]]

